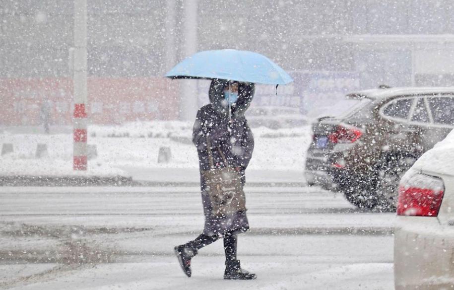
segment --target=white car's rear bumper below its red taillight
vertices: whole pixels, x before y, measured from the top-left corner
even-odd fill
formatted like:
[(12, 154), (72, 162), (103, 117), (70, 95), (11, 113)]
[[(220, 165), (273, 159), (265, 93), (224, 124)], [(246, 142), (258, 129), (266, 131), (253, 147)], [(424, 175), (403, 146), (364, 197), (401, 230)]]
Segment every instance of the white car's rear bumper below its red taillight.
[(436, 217), (398, 216), (394, 235), (396, 290), (454, 286), (454, 227)]

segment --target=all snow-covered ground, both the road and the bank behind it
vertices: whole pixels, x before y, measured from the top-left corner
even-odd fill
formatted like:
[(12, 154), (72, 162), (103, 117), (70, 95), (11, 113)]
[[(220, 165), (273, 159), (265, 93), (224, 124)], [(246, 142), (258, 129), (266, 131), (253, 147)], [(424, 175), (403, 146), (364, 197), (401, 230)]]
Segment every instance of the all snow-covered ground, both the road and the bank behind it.
[[(71, 128), (57, 129), (4, 128), (0, 144), (14, 152), (0, 156), (0, 175), (74, 175)], [(196, 183), (191, 131), (182, 122), (90, 126), (98, 156), (82, 174)], [(362, 212), (319, 188), (276, 187), (304, 182), (310, 127), (253, 132), (251, 230), (239, 258), (256, 281), (222, 279), (222, 242), (200, 250), (193, 277), (182, 273), (173, 246), (203, 226), (197, 186), (16, 186), (0, 187), (0, 289), (393, 289), (394, 215)], [(35, 157), (38, 144), (48, 157)], [(158, 162), (160, 147), (170, 147), (168, 163)]]

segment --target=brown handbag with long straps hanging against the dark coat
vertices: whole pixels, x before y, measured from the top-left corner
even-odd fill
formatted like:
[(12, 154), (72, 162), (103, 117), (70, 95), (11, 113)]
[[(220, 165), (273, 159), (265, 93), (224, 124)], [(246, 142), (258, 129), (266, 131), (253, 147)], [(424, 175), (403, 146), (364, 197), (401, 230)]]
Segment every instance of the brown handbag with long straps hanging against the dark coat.
[(202, 176), (206, 183), (205, 194), (208, 194), (212, 215), (225, 217), (246, 211), (246, 198), (241, 182), (241, 173), (229, 166), (220, 147), (217, 149), (225, 166), (215, 168), (208, 137), (206, 138), (206, 147), (210, 168), (202, 171)]

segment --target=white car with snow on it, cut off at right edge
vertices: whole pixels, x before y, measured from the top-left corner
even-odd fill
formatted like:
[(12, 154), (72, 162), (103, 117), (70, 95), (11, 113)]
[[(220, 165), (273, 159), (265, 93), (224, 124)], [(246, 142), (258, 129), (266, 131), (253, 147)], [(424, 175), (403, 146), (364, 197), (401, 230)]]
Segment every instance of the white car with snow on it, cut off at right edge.
[(395, 289), (454, 289), (454, 131), (399, 185)]

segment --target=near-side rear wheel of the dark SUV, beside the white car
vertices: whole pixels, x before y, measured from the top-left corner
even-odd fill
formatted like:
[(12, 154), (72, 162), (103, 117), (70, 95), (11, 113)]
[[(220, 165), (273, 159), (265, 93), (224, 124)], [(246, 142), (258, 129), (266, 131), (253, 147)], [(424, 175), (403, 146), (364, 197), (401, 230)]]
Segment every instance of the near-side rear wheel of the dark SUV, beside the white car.
[(377, 168), (377, 208), (383, 212), (394, 212), (397, 204), (397, 189), (403, 174), (413, 165), (413, 156), (387, 156)]

